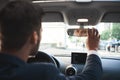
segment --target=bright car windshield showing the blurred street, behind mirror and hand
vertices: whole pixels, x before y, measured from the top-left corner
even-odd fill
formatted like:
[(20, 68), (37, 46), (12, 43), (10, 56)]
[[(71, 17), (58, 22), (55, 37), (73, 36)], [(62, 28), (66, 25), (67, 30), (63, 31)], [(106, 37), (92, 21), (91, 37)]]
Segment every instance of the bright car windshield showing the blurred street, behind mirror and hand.
[[(96, 26), (85, 28), (97, 28), (100, 35), (98, 53), (105, 58), (120, 58), (120, 23), (99, 23)], [(67, 29), (79, 28), (69, 26), (63, 22), (42, 23), (42, 40), (40, 51), (54, 56), (71, 56), (71, 52), (87, 52), (85, 48), (86, 37), (68, 36)]]

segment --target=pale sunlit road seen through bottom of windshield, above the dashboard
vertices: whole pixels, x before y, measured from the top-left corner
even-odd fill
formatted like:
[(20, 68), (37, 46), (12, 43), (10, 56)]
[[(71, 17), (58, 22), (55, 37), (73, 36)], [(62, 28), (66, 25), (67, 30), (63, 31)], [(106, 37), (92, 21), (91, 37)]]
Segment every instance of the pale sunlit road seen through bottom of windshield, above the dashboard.
[[(62, 56), (71, 56), (72, 52), (87, 52), (85, 48), (76, 48), (76, 49), (64, 49), (64, 48), (45, 48), (41, 51), (44, 51), (51, 55), (62, 55)], [(98, 53), (101, 57), (107, 57), (107, 58), (120, 58), (120, 53), (117, 52), (108, 52), (105, 50), (98, 50)]]

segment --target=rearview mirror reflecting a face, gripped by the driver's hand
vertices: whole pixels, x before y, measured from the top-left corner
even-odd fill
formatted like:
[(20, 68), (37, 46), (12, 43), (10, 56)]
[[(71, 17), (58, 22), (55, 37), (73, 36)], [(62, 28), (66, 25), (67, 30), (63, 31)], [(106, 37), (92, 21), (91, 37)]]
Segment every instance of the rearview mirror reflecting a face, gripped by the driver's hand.
[(67, 33), (69, 36), (76, 36), (76, 37), (86, 37), (88, 35), (88, 29), (68, 29)]

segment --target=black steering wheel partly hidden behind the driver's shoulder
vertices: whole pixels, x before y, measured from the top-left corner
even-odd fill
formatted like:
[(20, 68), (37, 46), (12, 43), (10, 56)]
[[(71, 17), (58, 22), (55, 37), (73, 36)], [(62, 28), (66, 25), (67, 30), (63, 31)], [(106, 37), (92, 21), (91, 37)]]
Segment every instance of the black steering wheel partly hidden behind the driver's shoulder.
[(53, 63), (56, 67), (58, 67), (53, 56), (42, 51), (38, 51), (35, 57), (30, 57), (27, 62), (28, 63), (35, 63), (35, 62)]

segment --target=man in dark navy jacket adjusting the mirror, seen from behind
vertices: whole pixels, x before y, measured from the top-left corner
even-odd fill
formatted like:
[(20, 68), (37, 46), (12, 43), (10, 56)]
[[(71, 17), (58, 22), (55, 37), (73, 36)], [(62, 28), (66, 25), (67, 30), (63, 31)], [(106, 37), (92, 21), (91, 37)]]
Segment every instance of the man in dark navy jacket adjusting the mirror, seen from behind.
[(65, 77), (52, 64), (28, 64), (29, 55), (35, 55), (41, 40), (41, 17), (38, 5), (25, 1), (12, 1), (0, 12), (1, 52), (0, 80), (99, 80), (102, 75), (97, 56), (99, 33), (88, 30), (89, 50), (85, 67), (77, 76)]

